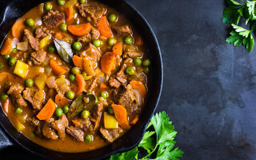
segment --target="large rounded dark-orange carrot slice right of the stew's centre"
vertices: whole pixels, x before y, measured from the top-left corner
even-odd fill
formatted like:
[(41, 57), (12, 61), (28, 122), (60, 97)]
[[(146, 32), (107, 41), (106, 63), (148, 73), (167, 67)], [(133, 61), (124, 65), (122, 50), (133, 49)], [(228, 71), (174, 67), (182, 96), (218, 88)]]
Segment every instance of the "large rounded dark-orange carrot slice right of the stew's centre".
[(116, 54), (113, 52), (106, 52), (106, 54), (103, 54), (101, 67), (105, 74), (110, 74), (111, 71), (114, 70), (116, 58)]

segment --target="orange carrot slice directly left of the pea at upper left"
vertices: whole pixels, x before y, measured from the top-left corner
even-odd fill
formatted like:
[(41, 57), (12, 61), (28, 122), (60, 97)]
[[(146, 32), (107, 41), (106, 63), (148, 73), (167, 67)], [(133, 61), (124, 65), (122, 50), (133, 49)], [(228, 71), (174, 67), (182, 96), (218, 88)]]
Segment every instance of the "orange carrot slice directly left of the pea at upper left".
[(13, 35), (14, 38), (17, 38), (19, 41), (22, 40), (22, 35), (24, 32), (24, 29), (26, 28), (25, 24), (25, 19), (18, 19), (14, 23), (14, 26), (11, 28), (11, 34)]

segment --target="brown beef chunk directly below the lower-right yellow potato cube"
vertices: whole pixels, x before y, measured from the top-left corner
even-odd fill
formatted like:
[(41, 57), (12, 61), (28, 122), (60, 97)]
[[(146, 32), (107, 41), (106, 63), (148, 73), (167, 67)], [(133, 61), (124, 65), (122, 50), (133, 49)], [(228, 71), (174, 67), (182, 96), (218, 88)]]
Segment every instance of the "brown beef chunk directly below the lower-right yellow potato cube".
[(99, 131), (107, 142), (114, 142), (117, 138), (120, 137), (120, 134), (122, 134), (122, 128), (106, 130), (105, 128), (101, 127)]

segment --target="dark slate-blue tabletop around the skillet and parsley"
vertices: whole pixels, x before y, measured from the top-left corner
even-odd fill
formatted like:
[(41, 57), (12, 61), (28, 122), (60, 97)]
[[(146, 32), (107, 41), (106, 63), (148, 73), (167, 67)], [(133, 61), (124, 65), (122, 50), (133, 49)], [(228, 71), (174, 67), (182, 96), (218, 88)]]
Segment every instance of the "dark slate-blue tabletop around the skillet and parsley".
[[(182, 159), (256, 159), (256, 50), (248, 54), (225, 42), (224, 0), (129, 2), (161, 46), (164, 85), (157, 111), (170, 114)], [(38, 159), (14, 147), (2, 150), (2, 158)]]

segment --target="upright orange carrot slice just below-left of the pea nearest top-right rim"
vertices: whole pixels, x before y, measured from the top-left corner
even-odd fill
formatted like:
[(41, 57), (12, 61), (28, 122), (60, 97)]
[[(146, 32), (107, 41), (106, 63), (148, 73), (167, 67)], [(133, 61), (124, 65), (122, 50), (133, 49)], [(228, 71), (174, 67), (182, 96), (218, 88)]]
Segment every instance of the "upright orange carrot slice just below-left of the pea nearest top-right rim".
[(109, 23), (107, 22), (106, 16), (103, 16), (100, 18), (97, 22), (97, 25), (99, 32), (102, 34), (102, 36), (106, 38), (112, 38), (113, 34), (110, 29)]

